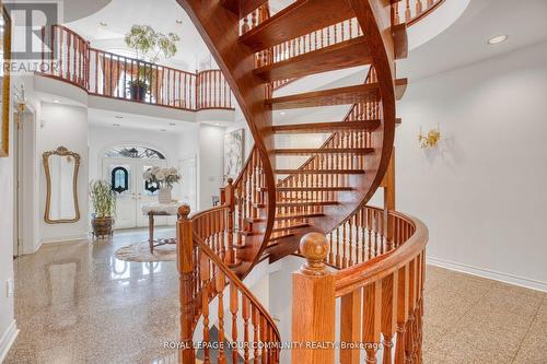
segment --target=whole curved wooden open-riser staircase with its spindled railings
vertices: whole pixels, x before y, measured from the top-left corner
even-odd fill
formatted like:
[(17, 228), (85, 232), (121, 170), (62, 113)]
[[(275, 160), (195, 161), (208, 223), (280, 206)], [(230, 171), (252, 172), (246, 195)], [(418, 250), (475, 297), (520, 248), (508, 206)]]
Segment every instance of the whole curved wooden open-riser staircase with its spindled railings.
[[(274, 15), (266, 0), (178, 2), (224, 73), (255, 140), (241, 175), (235, 181), (229, 180), (223, 189), (221, 207), (193, 216), (187, 209), (181, 210), (182, 341), (193, 342), (199, 327), (201, 340), (208, 342), (209, 329), (214, 325), (222, 333), (219, 340), (225, 340), (224, 291), (230, 290), (226, 291), (230, 292), (228, 310), (232, 315), (229, 341), (236, 342), (243, 334), (244, 343), (271, 347), (238, 348), (232, 350), (233, 356), (228, 359), (224, 350), (217, 348), (218, 362), (279, 363), (280, 348), (276, 344), (281, 338), (275, 321), (243, 284), (243, 279), (265, 259), (271, 262), (301, 254), (309, 260), (309, 269), (302, 271), (304, 280), (329, 277), (336, 282), (337, 279), (322, 268), (329, 265), (340, 270), (340, 282), (351, 282), (349, 287), (341, 285), (340, 292), (347, 295), (371, 283), (359, 283), (359, 274), (366, 275), (371, 263), (400, 255), (404, 260), (384, 267), (385, 277), (391, 274), (392, 284), (394, 280), (398, 282), (401, 275), (397, 271), (394, 277), (394, 271), (411, 265), (415, 273), (403, 274), (401, 284), (412, 282), (412, 290), (421, 290), (424, 227), (419, 221), (391, 211), (395, 208), (389, 195), (393, 192), (388, 193), (384, 210), (365, 207), (379, 187), (393, 189), (393, 178), (387, 178), (391, 174), (386, 177), (386, 172), (389, 166), (393, 168), (395, 103), (404, 95), (407, 84), (405, 79), (395, 77), (395, 60), (407, 54), (405, 24), (392, 25), (398, 1), (300, 0)], [(293, 79), (349, 67), (368, 69), (363, 71), (368, 72), (365, 82), (275, 95), (278, 85)], [(274, 124), (274, 110), (333, 105), (350, 107), (341, 121)], [(318, 148), (281, 148), (276, 136), (288, 133), (328, 133), (329, 137)], [(280, 157), (293, 155), (309, 158), (298, 168), (277, 167)], [(326, 234), (328, 239), (321, 238)], [(410, 249), (407, 243), (412, 238), (416, 242)], [(381, 274), (376, 279), (382, 284), (385, 277)], [(333, 290), (336, 291), (335, 283)], [(412, 297), (416, 302), (411, 315), (419, 314), (421, 291), (416, 291)], [(335, 295), (331, 298), (335, 300)], [(397, 306), (393, 297), (392, 305)], [(211, 307), (214, 307), (217, 324), (210, 319)], [(409, 309), (409, 305), (404, 309)], [(309, 327), (312, 321), (302, 327), (315, 332), (315, 328)], [(408, 315), (405, 325), (407, 321)], [(293, 330), (293, 340), (318, 339), (302, 338), (303, 332)], [(393, 332), (382, 333), (384, 341), (393, 337)], [(400, 334), (397, 338), (400, 340)], [(357, 341), (364, 339), (360, 337)], [(371, 339), (380, 340), (380, 331)], [(416, 341), (412, 353), (406, 354), (406, 349), (397, 345), (403, 352), (396, 357), (409, 361), (414, 355), (415, 362), (419, 362), (418, 336), (412, 340)], [(194, 349), (188, 345), (181, 351), (183, 363), (194, 363)], [(210, 362), (209, 351), (205, 352), (205, 362)], [(319, 357), (299, 352), (293, 354), (294, 363), (333, 362), (329, 355), (319, 354)], [(372, 362), (375, 354), (376, 351), (368, 351), (368, 360)], [(354, 363), (356, 355), (351, 357), (341, 362)], [(385, 359), (386, 363), (391, 362), (391, 356)]]

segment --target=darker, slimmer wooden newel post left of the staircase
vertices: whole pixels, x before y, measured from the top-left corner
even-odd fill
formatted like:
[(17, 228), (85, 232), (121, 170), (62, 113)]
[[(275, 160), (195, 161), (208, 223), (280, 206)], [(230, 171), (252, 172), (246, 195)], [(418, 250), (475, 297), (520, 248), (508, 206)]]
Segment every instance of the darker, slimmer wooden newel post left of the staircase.
[(194, 364), (195, 352), (193, 348), (191, 325), (194, 321), (194, 239), (191, 220), (188, 219), (190, 208), (183, 204), (178, 208), (177, 222), (177, 269), (178, 295), (181, 301), (181, 347), (178, 362)]

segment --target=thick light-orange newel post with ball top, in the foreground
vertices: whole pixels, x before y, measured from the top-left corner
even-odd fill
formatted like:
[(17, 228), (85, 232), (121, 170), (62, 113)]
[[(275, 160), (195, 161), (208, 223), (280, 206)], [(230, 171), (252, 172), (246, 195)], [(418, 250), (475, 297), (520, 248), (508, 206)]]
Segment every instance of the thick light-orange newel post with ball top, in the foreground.
[(333, 364), (335, 361), (335, 279), (324, 263), (325, 235), (310, 233), (300, 240), (306, 259), (292, 275), (292, 363)]

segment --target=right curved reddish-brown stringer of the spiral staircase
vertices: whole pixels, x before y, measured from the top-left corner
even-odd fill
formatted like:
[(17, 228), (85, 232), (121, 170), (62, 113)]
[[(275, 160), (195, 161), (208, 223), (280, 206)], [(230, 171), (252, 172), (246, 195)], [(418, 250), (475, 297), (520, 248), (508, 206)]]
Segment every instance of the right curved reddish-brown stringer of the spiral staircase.
[[(323, 208), (324, 216), (314, 218), (310, 231), (328, 234), (366, 204), (380, 187), (389, 164), (395, 140), (396, 93), (395, 93), (395, 54), (394, 28), (392, 27), (392, 8), (384, 0), (348, 0), (371, 49), (372, 66), (376, 72), (381, 95), (382, 122), (374, 133), (373, 153), (365, 156), (365, 174), (349, 176), (352, 191), (336, 192), (337, 206)], [(397, 36), (406, 38), (406, 28), (397, 28)], [(399, 45), (400, 46), (400, 45)], [(406, 47), (406, 44), (404, 44)], [(397, 51), (406, 54), (406, 51)], [(342, 121), (344, 122), (344, 121)], [(279, 184), (278, 184), (279, 186)], [(309, 231), (295, 232), (293, 236), (281, 239), (268, 250), (270, 262), (298, 250), (299, 242)]]

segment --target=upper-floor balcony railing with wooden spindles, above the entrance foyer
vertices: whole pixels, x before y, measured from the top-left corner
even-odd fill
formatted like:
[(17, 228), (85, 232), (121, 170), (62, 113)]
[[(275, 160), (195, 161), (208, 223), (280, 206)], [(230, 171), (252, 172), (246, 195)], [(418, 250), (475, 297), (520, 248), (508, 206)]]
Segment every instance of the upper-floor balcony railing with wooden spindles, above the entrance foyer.
[[(184, 110), (234, 109), (232, 91), (220, 70), (196, 73), (90, 47), (62, 25), (42, 28), (39, 74), (69, 82), (89, 94)], [(47, 64), (47, 66), (46, 66)]]

